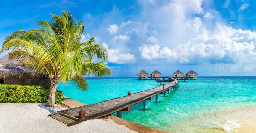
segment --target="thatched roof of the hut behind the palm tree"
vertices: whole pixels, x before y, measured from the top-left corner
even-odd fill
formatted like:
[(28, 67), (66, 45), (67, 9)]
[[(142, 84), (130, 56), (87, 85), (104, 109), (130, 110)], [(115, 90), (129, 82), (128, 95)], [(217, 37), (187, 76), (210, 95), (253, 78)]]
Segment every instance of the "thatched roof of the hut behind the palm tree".
[[(14, 50), (12, 51), (14, 52)], [(12, 53), (10, 52), (10, 53)], [(48, 77), (46, 74), (34, 73), (26, 69), (24, 63), (20, 64), (17, 59), (9, 60), (9, 53), (0, 59), (0, 78), (32, 78), (32, 79), (45, 79)]]

